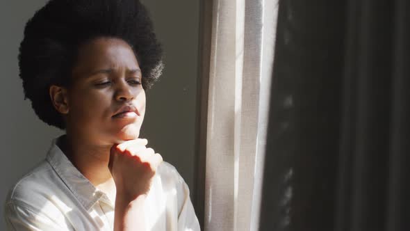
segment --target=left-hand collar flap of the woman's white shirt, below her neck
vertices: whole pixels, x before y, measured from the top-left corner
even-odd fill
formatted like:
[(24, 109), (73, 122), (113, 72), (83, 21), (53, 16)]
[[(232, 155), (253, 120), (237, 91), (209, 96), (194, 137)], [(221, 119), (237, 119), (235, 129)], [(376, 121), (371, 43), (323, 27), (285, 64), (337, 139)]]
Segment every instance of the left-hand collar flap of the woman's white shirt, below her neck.
[(51, 167), (54, 168), (60, 179), (63, 180), (68, 189), (87, 211), (100, 199), (112, 206), (112, 202), (108, 200), (106, 194), (92, 185), (69, 161), (63, 151), (60, 150), (57, 143), (63, 136), (53, 139), (47, 153), (46, 159)]

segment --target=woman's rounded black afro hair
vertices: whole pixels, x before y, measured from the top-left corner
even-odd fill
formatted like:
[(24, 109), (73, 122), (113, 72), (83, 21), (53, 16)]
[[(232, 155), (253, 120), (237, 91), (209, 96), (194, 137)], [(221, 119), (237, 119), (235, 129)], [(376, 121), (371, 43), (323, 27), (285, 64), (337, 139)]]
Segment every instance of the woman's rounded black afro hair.
[(79, 47), (99, 37), (129, 43), (144, 89), (161, 75), (161, 44), (147, 9), (138, 0), (51, 0), (28, 20), (19, 48), (25, 99), (31, 99), (40, 120), (65, 129), (63, 116), (51, 103), (49, 87), (69, 86)]

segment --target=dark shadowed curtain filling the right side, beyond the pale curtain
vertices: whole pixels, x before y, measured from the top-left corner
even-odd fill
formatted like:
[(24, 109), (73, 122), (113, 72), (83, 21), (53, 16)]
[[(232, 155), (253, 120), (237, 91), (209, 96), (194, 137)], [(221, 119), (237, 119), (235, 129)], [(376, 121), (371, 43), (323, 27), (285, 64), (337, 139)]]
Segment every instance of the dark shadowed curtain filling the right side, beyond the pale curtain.
[(409, 12), (279, 2), (260, 230), (410, 230)]

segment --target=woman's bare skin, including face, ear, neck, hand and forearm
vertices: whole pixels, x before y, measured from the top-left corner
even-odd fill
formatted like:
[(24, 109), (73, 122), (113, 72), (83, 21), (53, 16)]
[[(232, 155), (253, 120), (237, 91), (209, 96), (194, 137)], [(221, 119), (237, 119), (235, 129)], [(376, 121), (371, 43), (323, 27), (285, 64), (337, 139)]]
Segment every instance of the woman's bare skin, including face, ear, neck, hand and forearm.
[[(74, 166), (115, 201), (115, 230), (136, 223), (142, 211), (138, 207), (162, 161), (146, 148), (147, 140), (138, 138), (145, 116), (142, 78), (126, 42), (96, 38), (79, 48), (72, 85), (50, 88), (66, 124), (67, 140), (59, 145)], [(117, 113), (127, 105), (129, 112)], [(127, 217), (134, 219), (127, 224)]]

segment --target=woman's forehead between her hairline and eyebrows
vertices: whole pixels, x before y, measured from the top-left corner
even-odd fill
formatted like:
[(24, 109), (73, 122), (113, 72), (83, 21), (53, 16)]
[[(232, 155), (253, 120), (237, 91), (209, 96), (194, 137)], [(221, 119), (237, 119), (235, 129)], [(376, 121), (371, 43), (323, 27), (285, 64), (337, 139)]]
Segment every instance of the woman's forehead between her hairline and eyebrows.
[(118, 38), (96, 38), (79, 47), (73, 72), (92, 71), (99, 68), (139, 69), (133, 49)]

